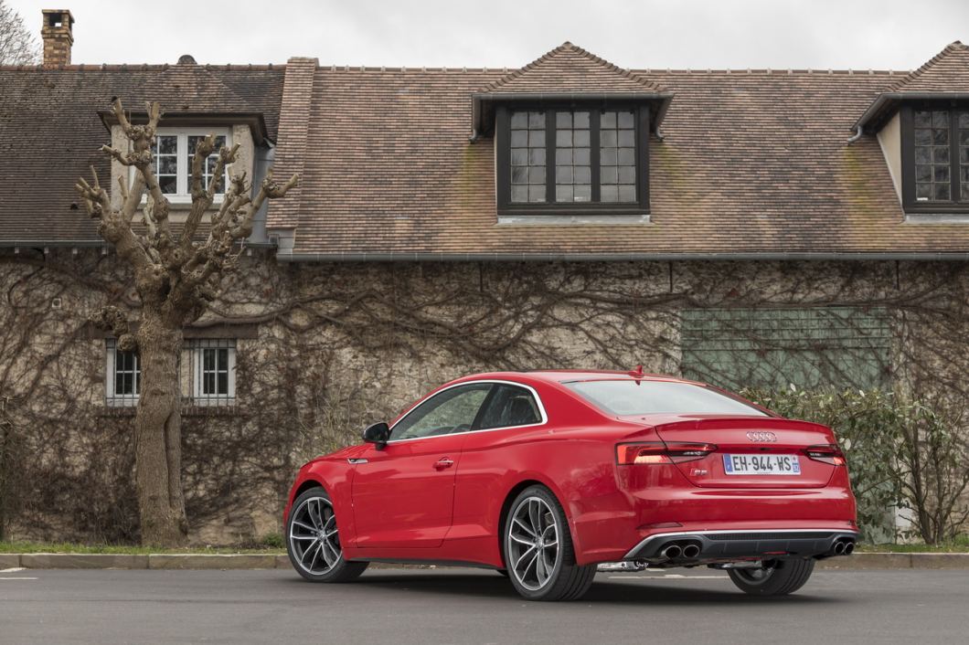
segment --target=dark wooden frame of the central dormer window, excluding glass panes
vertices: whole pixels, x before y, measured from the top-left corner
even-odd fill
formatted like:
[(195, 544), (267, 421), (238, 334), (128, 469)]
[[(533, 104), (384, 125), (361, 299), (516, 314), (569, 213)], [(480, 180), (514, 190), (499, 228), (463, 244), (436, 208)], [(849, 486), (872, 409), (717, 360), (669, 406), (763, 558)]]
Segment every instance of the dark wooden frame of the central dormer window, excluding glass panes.
[[(512, 111), (546, 112), (546, 201), (512, 201)], [(590, 112), (589, 162), (592, 174), (591, 201), (554, 201), (555, 196), (555, 112)], [(604, 110), (632, 110), (636, 124), (636, 201), (601, 202), (600, 115)], [(495, 109), (495, 192), (499, 215), (648, 215), (649, 214), (649, 119), (648, 104), (636, 102), (540, 102), (503, 104)]]

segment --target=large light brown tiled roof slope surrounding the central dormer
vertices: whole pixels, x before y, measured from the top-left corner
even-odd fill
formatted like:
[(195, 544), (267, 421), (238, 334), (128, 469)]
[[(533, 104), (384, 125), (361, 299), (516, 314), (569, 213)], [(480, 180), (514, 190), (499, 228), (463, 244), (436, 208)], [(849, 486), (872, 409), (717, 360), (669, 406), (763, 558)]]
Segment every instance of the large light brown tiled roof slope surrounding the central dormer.
[(676, 96), (650, 141), (651, 224), (498, 224), (493, 139), (470, 143), (468, 118), (503, 76), (318, 70), (295, 253), (969, 251), (969, 227), (904, 224), (878, 141), (846, 142), (888, 73), (641, 72)]

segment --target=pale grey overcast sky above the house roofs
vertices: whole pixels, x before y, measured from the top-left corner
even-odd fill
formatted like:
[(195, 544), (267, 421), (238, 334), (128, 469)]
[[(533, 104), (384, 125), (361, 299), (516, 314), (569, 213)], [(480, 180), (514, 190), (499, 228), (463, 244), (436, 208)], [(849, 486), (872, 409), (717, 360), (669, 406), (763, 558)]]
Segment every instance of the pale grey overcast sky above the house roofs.
[[(67, 7), (75, 63), (516, 68), (563, 41), (626, 68), (896, 69), (969, 42), (969, 0), (7, 0), (39, 37)], [(152, 6), (157, 11), (149, 13)]]

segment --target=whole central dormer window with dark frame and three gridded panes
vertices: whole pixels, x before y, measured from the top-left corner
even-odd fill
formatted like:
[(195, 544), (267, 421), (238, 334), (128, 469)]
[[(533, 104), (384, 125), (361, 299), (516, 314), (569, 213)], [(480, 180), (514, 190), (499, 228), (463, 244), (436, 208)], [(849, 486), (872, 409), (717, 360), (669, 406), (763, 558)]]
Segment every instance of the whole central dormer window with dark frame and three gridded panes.
[(495, 127), (501, 213), (648, 212), (647, 106), (505, 106)]

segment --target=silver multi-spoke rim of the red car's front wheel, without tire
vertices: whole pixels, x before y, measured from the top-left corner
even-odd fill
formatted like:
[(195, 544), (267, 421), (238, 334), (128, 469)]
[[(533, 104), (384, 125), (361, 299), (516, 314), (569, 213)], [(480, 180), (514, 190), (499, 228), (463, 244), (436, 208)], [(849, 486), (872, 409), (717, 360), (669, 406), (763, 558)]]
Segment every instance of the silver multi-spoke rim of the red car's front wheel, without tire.
[(343, 557), (336, 514), (325, 497), (310, 497), (293, 511), (290, 547), (299, 567), (314, 575), (327, 573)]

